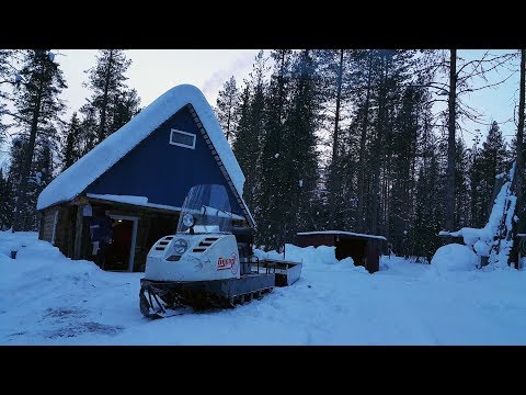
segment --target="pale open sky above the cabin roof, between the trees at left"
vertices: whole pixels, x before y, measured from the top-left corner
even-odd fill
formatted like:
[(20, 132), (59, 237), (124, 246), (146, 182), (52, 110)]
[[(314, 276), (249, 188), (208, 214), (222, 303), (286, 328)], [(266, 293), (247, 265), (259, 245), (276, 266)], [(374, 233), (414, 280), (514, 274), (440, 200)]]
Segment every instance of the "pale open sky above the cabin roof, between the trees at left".
[[(199, 88), (211, 105), (216, 105), (217, 92), (230, 76), (238, 86), (248, 78), (259, 49), (129, 49), (126, 58), (132, 66), (125, 74), (127, 84), (135, 88), (140, 106), (146, 108), (169, 89), (191, 83)], [(64, 70), (68, 89), (62, 98), (77, 111), (90, 95), (82, 82), (88, 80), (84, 70), (96, 63), (96, 49), (58, 49), (55, 58)]]

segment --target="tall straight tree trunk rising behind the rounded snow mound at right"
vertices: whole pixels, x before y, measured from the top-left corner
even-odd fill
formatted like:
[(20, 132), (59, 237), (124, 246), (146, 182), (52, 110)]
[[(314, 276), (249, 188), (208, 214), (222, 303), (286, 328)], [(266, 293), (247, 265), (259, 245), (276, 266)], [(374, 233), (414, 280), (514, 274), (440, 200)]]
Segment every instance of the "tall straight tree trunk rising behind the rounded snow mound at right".
[(448, 137), (446, 172), (446, 230), (455, 230), (455, 124), (457, 99), (457, 49), (450, 49), (449, 99), (448, 99)]

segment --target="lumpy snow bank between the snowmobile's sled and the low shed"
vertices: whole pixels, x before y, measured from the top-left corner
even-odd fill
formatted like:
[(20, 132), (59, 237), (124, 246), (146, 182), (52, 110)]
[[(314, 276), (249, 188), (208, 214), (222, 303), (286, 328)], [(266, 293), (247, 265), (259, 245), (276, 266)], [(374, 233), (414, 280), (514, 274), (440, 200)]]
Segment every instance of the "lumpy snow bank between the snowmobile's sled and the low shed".
[(334, 246), (319, 247), (298, 247), (291, 244), (285, 245), (285, 255), (277, 251), (263, 251), (254, 249), (254, 253), (260, 259), (287, 260), (293, 262), (301, 262), (304, 269), (308, 270), (336, 270), (336, 271), (361, 271), (368, 273), (364, 267), (354, 266), (354, 260), (347, 257), (338, 260)]

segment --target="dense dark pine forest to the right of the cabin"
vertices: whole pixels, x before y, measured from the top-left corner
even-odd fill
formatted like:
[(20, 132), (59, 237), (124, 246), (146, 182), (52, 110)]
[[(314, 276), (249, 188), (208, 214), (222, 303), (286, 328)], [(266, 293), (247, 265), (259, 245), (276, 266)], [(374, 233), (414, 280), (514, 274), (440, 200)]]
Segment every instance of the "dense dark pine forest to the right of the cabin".
[(258, 242), (279, 249), (297, 232), (340, 229), (382, 235), (396, 253), (431, 259), (439, 230), (483, 227), (495, 177), (517, 160), (524, 178), (524, 98), (511, 144), (494, 121), (462, 129), (462, 119), (483, 115), (464, 98), (505, 81), (484, 79), (521, 54), (261, 52), (249, 78), (238, 87), (232, 76), (216, 103)]

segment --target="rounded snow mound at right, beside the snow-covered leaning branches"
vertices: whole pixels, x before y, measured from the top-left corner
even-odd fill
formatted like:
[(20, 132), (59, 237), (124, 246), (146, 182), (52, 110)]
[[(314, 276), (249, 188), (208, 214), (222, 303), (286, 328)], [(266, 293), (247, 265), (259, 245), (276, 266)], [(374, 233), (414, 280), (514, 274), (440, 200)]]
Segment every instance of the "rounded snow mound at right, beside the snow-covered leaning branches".
[(479, 257), (471, 248), (459, 244), (442, 246), (431, 259), (431, 267), (441, 273), (473, 270), (478, 263)]

